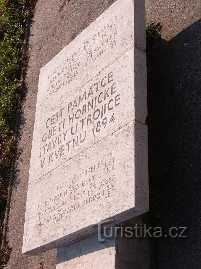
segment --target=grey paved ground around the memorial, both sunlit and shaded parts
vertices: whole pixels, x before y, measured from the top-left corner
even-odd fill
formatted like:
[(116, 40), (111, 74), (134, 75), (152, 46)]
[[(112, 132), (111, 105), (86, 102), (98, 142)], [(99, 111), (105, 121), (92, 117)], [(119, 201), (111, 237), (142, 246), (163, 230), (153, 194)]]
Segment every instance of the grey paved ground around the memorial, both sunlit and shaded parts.
[[(21, 119), (22, 150), (9, 215), (9, 269), (55, 268), (55, 250), (21, 255), (39, 70), (115, 0), (38, 0), (31, 26), (28, 92)], [(154, 242), (156, 268), (200, 268), (199, 179), (199, 0), (146, 0), (147, 21), (163, 27), (156, 57), (148, 57), (149, 167), (157, 188), (159, 222), (164, 229), (188, 226), (188, 239)], [(201, 32), (201, 31), (200, 31)], [(201, 61), (200, 61), (201, 62)], [(155, 194), (155, 193), (154, 193)], [(152, 201), (154, 194), (151, 192)], [(153, 210), (154, 208), (154, 210)], [(155, 212), (155, 203), (151, 202)], [(153, 213), (154, 214), (154, 213)], [(200, 264), (199, 264), (200, 262)]]

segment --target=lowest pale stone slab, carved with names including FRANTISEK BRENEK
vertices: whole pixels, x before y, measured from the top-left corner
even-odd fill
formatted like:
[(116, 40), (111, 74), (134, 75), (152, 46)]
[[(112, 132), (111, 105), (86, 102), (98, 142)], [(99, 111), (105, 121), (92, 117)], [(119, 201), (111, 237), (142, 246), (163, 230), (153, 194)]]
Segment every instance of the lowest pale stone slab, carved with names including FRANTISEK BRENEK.
[(147, 126), (131, 121), (29, 184), (23, 252), (66, 245), (148, 210)]

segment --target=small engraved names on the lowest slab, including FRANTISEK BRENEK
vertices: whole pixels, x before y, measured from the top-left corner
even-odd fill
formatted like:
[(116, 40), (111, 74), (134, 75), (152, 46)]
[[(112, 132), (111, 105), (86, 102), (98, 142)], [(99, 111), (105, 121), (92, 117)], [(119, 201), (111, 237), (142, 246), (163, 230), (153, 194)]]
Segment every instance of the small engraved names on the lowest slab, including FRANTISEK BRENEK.
[[(51, 222), (61, 221), (77, 210), (113, 196), (116, 189), (115, 171), (116, 162), (111, 151), (104, 159), (77, 171), (78, 174), (71, 178), (61, 180), (54, 189), (54, 196), (37, 205), (36, 226), (48, 226)], [(65, 170), (63, 175), (65, 178)]]

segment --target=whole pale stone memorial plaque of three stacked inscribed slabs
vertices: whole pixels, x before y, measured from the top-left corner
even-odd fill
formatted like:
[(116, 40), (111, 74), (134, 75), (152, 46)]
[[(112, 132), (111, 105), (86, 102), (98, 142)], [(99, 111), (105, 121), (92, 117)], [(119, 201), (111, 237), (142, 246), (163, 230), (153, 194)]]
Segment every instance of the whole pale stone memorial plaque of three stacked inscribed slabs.
[(22, 253), (148, 211), (144, 17), (117, 0), (40, 70)]

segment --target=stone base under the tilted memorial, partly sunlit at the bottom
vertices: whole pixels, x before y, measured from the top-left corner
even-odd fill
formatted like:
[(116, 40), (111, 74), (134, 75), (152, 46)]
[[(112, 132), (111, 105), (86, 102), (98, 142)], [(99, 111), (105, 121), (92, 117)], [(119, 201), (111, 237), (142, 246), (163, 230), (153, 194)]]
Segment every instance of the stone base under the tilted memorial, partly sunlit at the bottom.
[[(125, 227), (142, 224), (134, 218), (117, 225), (123, 229), (113, 229), (113, 237), (98, 240), (97, 235), (57, 249), (56, 269), (149, 269), (150, 247), (148, 238), (128, 238), (122, 235)], [(110, 229), (107, 235), (110, 235)], [(103, 234), (102, 234), (103, 238)]]

